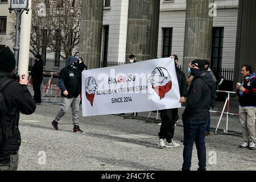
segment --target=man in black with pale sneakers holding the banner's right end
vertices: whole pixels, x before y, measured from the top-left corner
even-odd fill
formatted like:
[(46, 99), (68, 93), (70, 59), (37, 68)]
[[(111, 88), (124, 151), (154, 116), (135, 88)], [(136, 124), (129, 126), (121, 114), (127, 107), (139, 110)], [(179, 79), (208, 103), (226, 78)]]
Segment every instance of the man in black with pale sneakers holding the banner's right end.
[[(177, 55), (172, 55), (171, 59), (175, 60), (175, 69), (180, 90), (180, 102), (184, 103), (185, 97), (187, 97), (187, 80), (185, 74), (177, 67), (179, 61)], [(175, 108), (161, 110), (160, 118), (162, 119), (162, 123), (160, 127), (160, 132), (158, 133), (158, 146), (160, 148), (179, 147), (180, 144), (172, 140), (172, 138), (174, 137), (175, 122), (177, 121), (177, 119), (179, 119), (178, 109)], [(164, 144), (164, 139), (166, 139), (166, 144)]]

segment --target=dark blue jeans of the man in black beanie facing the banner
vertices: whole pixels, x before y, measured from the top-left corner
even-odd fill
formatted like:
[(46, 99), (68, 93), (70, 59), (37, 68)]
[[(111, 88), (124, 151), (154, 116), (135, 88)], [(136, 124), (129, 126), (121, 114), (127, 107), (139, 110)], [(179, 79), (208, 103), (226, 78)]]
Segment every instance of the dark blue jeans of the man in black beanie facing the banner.
[(187, 118), (183, 119), (184, 126), (184, 149), (183, 171), (190, 171), (193, 144), (196, 143), (199, 171), (206, 170), (205, 128), (207, 120)]

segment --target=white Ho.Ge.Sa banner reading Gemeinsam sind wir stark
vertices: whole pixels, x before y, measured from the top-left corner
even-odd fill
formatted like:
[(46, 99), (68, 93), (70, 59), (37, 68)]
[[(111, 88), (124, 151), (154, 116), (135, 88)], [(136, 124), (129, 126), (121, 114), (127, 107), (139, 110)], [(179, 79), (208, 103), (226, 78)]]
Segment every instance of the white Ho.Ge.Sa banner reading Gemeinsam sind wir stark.
[(174, 59), (154, 59), (82, 72), (82, 115), (181, 107)]

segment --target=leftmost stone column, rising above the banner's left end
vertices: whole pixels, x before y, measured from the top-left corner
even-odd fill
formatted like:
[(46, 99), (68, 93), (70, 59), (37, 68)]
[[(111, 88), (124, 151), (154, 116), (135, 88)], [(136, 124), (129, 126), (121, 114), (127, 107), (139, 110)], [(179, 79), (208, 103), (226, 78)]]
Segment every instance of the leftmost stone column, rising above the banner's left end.
[(100, 67), (103, 3), (102, 0), (82, 1), (79, 56), (89, 69)]

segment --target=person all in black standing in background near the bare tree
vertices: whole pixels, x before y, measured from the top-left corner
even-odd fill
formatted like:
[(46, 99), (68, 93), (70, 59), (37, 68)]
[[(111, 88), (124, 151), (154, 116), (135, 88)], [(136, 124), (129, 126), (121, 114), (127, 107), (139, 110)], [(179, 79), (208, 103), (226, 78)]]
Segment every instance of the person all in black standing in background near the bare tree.
[(34, 100), (36, 104), (41, 104), (41, 84), (43, 81), (44, 63), (41, 55), (35, 55), (35, 64), (31, 71), (32, 85), (34, 90)]

